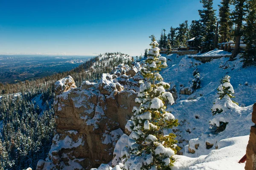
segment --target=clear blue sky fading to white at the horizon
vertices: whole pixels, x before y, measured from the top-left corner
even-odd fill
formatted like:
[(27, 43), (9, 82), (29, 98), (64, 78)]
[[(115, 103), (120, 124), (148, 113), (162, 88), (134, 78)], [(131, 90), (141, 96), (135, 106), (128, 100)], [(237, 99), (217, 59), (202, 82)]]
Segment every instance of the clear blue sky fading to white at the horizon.
[(140, 55), (148, 36), (198, 20), (201, 8), (199, 0), (0, 0), (0, 54)]

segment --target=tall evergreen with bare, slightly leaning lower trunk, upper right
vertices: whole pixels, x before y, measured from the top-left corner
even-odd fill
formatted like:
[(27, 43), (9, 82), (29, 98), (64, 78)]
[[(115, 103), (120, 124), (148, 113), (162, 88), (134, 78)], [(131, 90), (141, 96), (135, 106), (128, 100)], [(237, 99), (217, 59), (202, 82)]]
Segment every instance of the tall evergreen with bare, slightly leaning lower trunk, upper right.
[(234, 35), (236, 37), (235, 40), (235, 48), (230, 56), (230, 59), (233, 59), (237, 56), (240, 51), (240, 39), (243, 35), (243, 21), (245, 20), (245, 14), (247, 11), (247, 0), (231, 0), (231, 3), (234, 5), (234, 10), (232, 12), (233, 23), (236, 25), (236, 29)]

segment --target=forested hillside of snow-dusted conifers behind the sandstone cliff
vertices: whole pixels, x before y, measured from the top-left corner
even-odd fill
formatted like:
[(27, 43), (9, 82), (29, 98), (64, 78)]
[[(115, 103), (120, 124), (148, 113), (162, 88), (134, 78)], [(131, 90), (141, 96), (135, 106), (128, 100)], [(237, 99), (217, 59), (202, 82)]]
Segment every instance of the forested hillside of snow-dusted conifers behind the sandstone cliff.
[(45, 159), (55, 130), (54, 83), (71, 75), (76, 85), (85, 80), (97, 82), (102, 73), (111, 72), (121, 63), (131, 64), (127, 54), (106, 53), (61, 74), (20, 82), (1, 84), (0, 96), (0, 167), (35, 169)]

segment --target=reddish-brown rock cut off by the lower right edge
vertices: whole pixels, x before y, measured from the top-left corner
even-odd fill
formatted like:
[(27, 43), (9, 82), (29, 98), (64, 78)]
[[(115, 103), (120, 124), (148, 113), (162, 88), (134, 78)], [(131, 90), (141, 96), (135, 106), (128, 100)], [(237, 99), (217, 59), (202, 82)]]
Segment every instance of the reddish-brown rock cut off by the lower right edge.
[[(252, 121), (256, 124), (256, 103), (253, 105)], [(245, 170), (256, 170), (256, 125), (251, 126), (250, 138), (246, 147)]]

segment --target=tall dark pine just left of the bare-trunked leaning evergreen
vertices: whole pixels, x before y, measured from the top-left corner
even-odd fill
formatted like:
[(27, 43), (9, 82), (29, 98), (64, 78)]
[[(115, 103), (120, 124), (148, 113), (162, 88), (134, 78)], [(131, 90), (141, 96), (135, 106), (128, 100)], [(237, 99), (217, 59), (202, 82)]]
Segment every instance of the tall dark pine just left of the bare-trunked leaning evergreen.
[(227, 37), (230, 33), (230, 1), (231, 0), (221, 0), (221, 5), (219, 8), (219, 24), (220, 24), (220, 34), (221, 42), (226, 42)]

